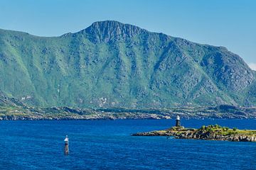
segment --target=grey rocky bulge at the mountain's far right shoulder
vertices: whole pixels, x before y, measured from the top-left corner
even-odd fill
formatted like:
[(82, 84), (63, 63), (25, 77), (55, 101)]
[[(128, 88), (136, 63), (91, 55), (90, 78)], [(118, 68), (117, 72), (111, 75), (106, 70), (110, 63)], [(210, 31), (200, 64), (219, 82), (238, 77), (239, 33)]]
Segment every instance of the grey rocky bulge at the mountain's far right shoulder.
[(247, 64), (238, 55), (225, 49), (210, 52), (203, 57), (201, 66), (223, 89), (229, 91), (246, 89), (255, 80), (255, 74)]

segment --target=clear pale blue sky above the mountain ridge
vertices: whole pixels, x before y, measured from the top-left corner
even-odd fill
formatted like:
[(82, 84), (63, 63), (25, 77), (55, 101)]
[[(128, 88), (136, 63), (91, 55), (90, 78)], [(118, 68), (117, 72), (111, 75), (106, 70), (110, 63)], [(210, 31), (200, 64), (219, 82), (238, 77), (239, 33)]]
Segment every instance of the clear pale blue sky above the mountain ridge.
[(256, 0), (0, 0), (0, 28), (58, 36), (114, 20), (228, 47), (256, 69)]

